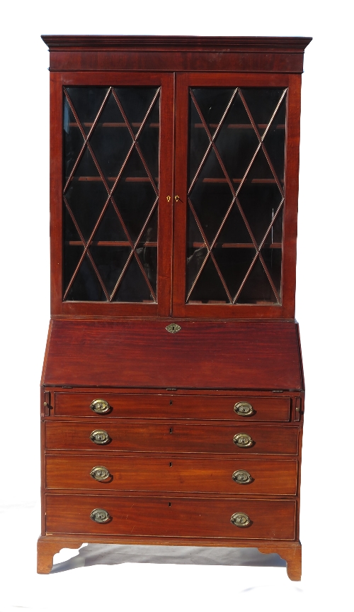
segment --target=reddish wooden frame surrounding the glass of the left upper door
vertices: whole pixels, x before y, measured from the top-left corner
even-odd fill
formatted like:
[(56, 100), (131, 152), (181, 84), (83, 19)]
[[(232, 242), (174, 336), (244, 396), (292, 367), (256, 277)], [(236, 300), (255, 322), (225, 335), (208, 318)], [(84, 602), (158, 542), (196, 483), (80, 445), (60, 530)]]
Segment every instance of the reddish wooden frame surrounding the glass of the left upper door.
[[(173, 74), (56, 72), (50, 90), (50, 235), (52, 316), (170, 316), (173, 182)], [(156, 87), (160, 95), (157, 304), (144, 301), (63, 301), (63, 88)], [(105, 124), (106, 126), (109, 124)], [(89, 130), (89, 128), (88, 128)], [(79, 130), (77, 130), (79, 132)], [(133, 145), (134, 148), (134, 145)], [(155, 179), (155, 177), (154, 177)], [(79, 179), (81, 180), (81, 179)], [(94, 183), (91, 183), (94, 184)], [(108, 194), (107, 194), (108, 196)], [(169, 199), (168, 199), (169, 196)], [(119, 239), (121, 240), (121, 239)], [(125, 239), (126, 240), (126, 239)], [(149, 240), (149, 238), (142, 238)], [(134, 257), (133, 257), (134, 259)]]

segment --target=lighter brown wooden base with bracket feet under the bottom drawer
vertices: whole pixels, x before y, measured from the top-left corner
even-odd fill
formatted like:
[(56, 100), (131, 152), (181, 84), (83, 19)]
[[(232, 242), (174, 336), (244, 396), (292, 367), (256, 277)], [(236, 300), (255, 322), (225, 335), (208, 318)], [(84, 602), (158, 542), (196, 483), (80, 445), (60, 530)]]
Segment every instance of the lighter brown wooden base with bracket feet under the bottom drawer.
[[(54, 555), (62, 548), (79, 548), (83, 543), (90, 544), (148, 544), (171, 546), (232, 546), (229, 540), (191, 540), (190, 538), (94, 538), (92, 536), (41, 535), (37, 544), (37, 572), (49, 574), (53, 566)], [(235, 548), (258, 548), (259, 552), (268, 555), (277, 553), (287, 563), (287, 575), (290, 580), (301, 580), (301, 544), (259, 540), (238, 540)]]

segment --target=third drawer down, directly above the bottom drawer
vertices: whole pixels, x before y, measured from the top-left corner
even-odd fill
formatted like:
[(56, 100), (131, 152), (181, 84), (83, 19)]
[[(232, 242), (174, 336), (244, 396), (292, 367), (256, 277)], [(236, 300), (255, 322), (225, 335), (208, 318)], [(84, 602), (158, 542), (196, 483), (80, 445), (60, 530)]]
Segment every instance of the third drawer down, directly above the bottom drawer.
[[(107, 470), (91, 471), (96, 466)], [(234, 474), (234, 478), (233, 478)], [(249, 476), (247, 475), (249, 474)], [(295, 495), (296, 460), (47, 455), (47, 489)]]

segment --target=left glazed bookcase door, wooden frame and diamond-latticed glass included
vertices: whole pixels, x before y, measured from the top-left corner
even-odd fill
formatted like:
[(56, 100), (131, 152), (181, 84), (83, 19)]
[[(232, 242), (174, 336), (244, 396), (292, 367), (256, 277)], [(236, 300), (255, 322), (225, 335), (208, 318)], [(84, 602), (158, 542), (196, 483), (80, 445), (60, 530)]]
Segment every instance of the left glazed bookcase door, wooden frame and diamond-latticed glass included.
[(173, 76), (51, 76), (52, 313), (169, 316)]

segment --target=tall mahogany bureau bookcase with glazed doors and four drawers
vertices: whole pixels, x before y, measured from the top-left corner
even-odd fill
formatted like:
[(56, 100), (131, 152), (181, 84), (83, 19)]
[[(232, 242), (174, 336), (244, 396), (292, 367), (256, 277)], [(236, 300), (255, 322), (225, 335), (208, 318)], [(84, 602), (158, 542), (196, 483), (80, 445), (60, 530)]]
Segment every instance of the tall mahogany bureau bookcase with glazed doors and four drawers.
[(51, 321), (38, 572), (258, 547), (301, 574), (295, 321), (310, 38), (43, 36)]

